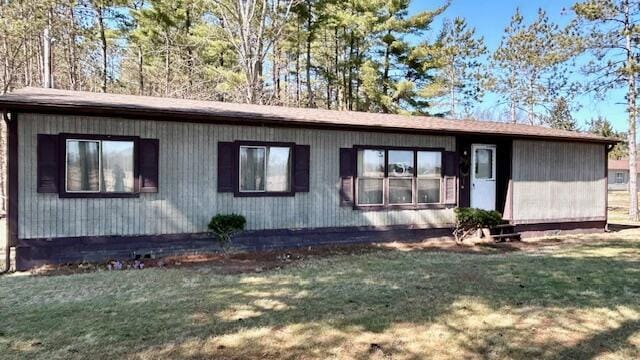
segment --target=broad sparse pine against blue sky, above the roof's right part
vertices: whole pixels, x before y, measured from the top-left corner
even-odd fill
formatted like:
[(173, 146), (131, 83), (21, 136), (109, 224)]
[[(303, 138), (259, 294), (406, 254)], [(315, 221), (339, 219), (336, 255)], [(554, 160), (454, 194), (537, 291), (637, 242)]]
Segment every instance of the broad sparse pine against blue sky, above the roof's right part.
[(490, 83), (493, 91), (505, 95), (512, 122), (520, 110), (530, 124), (539, 123), (555, 98), (571, 95), (567, 62), (578, 51), (571, 34), (570, 28), (561, 31), (542, 9), (529, 25), (516, 10), (492, 55), (496, 75)]

